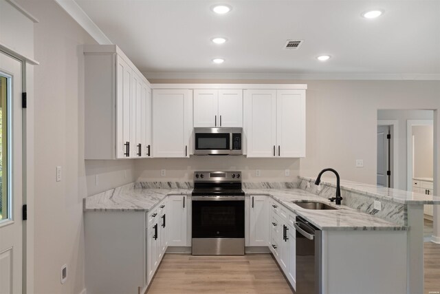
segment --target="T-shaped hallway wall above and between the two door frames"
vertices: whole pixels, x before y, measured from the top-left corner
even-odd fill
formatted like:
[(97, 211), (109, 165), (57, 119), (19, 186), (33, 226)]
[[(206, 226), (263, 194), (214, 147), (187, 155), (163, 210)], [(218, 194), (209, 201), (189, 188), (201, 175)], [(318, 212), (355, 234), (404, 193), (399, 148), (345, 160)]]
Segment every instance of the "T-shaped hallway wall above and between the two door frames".
[[(440, 105), (438, 106), (440, 107)], [(422, 107), (422, 104), (415, 109), (404, 110), (398, 109), (398, 105), (396, 105), (396, 109), (379, 109), (377, 111), (377, 119), (378, 120), (397, 120), (399, 124), (399, 134), (395, 134), (397, 136), (397, 142), (399, 144), (399, 154), (395, 155), (397, 158), (399, 165), (399, 187), (397, 189), (406, 190), (407, 187), (407, 174), (406, 174), (406, 149), (407, 149), (407, 141), (406, 141), (406, 120), (432, 120), (434, 116), (434, 112), (432, 110), (421, 110), (425, 107)], [(432, 165), (431, 165), (432, 166)]]

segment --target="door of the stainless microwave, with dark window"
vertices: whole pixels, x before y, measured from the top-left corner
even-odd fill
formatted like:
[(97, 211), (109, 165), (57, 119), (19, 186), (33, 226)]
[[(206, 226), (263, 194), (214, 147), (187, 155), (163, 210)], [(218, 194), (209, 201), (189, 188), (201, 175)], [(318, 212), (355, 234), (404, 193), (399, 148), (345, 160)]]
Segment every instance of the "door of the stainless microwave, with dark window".
[(196, 132), (194, 154), (230, 154), (230, 149), (232, 149), (230, 137), (230, 133)]

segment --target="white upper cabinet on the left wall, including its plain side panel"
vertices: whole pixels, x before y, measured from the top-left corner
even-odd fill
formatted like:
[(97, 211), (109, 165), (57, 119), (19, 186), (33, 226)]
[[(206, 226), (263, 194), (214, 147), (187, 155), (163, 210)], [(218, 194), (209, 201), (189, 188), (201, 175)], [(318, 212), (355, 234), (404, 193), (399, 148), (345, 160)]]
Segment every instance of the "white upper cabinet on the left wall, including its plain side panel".
[(85, 159), (151, 156), (151, 90), (116, 45), (85, 45)]

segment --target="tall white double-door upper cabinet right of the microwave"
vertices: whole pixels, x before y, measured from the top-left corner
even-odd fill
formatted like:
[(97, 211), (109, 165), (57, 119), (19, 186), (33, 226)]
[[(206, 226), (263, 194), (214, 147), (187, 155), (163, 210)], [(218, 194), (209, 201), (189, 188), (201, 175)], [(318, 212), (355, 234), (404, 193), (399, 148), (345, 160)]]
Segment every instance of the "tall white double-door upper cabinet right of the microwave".
[(245, 90), (248, 157), (305, 157), (305, 90)]

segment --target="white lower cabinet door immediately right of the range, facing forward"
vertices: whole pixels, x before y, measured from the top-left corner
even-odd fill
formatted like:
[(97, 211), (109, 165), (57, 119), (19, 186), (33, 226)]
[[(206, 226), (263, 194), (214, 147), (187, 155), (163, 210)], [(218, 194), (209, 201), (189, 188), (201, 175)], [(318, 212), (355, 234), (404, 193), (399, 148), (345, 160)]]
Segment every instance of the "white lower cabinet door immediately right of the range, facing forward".
[(269, 209), (267, 196), (250, 196), (250, 246), (267, 246)]

